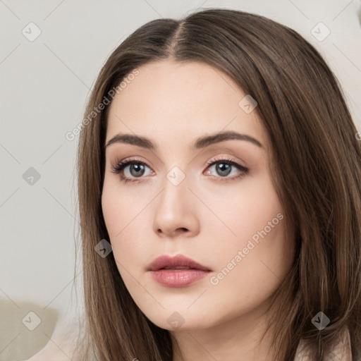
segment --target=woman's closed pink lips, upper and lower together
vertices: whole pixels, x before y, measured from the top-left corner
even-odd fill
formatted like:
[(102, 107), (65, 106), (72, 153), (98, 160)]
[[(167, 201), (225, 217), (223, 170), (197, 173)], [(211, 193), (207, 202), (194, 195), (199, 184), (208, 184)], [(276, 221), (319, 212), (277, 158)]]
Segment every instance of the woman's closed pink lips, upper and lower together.
[(188, 286), (204, 278), (212, 270), (183, 255), (176, 255), (175, 257), (162, 255), (154, 259), (149, 265), (148, 271), (150, 271), (154, 281), (162, 286), (178, 288)]

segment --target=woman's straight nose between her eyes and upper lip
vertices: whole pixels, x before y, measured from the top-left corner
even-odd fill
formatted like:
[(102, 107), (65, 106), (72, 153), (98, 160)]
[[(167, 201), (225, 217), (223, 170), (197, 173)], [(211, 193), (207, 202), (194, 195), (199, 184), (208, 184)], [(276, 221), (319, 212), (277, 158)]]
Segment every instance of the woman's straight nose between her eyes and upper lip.
[(187, 178), (179, 184), (169, 179), (155, 202), (154, 231), (164, 238), (193, 237), (200, 231), (197, 197), (188, 189)]

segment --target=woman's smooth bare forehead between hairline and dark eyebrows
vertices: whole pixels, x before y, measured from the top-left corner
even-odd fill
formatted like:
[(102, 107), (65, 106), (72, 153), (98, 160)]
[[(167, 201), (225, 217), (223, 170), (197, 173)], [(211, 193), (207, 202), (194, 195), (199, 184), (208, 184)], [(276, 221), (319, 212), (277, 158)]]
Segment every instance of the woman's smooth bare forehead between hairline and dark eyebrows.
[(266, 142), (257, 113), (241, 107), (247, 94), (219, 69), (202, 62), (166, 60), (137, 70), (111, 102), (106, 140), (135, 133), (159, 144), (191, 142), (229, 130)]

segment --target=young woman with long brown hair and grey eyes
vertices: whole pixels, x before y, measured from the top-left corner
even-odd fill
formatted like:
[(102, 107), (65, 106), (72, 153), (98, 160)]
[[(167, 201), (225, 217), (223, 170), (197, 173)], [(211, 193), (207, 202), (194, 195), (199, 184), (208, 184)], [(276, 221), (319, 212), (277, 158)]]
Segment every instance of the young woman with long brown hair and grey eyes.
[(288, 27), (209, 9), (136, 30), (80, 135), (78, 358), (360, 360), (356, 133)]

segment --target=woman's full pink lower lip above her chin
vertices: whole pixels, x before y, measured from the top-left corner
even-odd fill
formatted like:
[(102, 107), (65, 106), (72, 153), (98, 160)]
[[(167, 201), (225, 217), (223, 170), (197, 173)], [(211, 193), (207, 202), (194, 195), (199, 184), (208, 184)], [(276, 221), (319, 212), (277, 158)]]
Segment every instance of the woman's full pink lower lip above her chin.
[(162, 286), (185, 287), (202, 279), (209, 274), (209, 271), (201, 269), (159, 269), (150, 271), (153, 279)]

